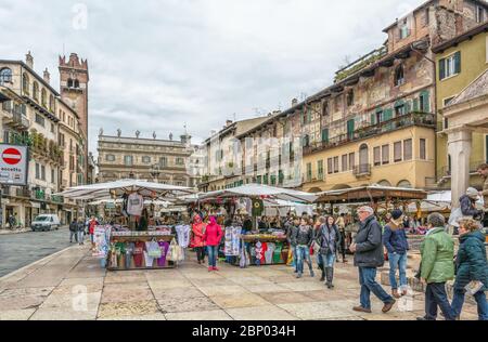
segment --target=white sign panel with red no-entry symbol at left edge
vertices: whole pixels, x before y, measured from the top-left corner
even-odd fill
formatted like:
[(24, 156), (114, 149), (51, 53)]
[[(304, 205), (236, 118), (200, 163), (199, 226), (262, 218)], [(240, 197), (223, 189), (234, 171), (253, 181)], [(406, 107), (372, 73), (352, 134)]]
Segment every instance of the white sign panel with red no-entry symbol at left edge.
[(28, 147), (0, 144), (0, 183), (27, 185)]

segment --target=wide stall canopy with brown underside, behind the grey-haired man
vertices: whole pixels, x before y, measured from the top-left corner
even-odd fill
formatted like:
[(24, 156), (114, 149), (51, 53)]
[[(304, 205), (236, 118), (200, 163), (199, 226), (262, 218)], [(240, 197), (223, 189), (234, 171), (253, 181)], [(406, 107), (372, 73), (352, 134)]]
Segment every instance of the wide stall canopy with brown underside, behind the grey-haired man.
[(316, 194), (319, 196), (318, 202), (344, 203), (364, 202), (382, 200), (421, 200), (427, 197), (427, 193), (422, 189), (389, 187), (389, 186), (362, 186), (330, 190)]

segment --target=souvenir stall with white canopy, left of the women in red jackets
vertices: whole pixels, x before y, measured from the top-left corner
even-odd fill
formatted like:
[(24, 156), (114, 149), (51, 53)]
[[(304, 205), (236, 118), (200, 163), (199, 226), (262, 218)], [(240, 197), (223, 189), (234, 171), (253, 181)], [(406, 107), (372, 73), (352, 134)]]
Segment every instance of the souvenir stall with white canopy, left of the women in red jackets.
[(163, 203), (191, 193), (188, 187), (124, 180), (72, 187), (60, 195), (92, 201), (121, 200), (120, 218), (126, 219), (125, 224), (113, 222), (95, 227), (93, 256), (100, 258), (102, 266), (110, 271), (126, 271), (175, 267), (184, 259), (190, 225), (180, 222), (168, 226), (153, 222), (141, 232), (132, 223), (141, 219), (144, 205), (151, 207), (155, 201)]

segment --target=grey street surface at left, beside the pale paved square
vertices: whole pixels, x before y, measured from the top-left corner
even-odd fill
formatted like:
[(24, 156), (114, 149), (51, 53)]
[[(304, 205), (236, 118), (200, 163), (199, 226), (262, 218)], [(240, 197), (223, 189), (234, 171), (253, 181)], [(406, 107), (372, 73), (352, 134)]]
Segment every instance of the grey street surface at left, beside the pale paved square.
[(69, 231), (0, 235), (0, 277), (69, 246)]

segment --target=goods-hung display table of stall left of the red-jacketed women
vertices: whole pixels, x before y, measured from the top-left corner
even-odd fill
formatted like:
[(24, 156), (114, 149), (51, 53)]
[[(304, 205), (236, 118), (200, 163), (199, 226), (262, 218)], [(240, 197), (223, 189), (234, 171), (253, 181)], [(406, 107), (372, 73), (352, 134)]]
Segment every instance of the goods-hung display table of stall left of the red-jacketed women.
[[(167, 260), (169, 245), (174, 239), (175, 235), (168, 232), (112, 232), (107, 269), (175, 268), (178, 264)], [(160, 258), (152, 258), (150, 251), (157, 247), (160, 249)]]

